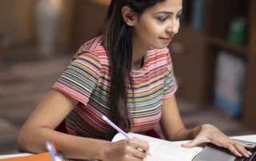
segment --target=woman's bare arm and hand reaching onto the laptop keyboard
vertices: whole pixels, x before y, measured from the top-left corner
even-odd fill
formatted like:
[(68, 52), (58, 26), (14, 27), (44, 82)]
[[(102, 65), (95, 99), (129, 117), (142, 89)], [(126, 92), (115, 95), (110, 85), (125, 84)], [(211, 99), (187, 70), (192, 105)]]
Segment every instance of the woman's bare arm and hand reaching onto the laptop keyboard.
[(178, 112), (175, 96), (163, 101), (160, 124), (166, 139), (193, 139), (189, 143), (183, 144), (184, 147), (194, 147), (200, 143), (214, 143), (220, 147), (226, 147), (238, 157), (251, 155), (249, 151), (246, 151), (246, 147), (252, 146), (230, 139), (211, 124), (202, 124), (195, 128), (186, 129)]

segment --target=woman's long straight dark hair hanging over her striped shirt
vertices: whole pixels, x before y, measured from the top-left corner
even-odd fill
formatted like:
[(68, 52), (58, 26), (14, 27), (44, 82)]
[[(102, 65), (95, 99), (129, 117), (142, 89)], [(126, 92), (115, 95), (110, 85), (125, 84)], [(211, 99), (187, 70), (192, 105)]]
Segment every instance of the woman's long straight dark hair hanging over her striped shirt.
[[(136, 14), (164, 0), (112, 0), (107, 13), (106, 26), (103, 29), (104, 45), (110, 61), (110, 118), (126, 132), (130, 131), (132, 118), (127, 107), (132, 61), (132, 27), (122, 19), (122, 6), (129, 6)], [(134, 94), (134, 92), (132, 93)], [(116, 132), (113, 130), (108, 138)]]

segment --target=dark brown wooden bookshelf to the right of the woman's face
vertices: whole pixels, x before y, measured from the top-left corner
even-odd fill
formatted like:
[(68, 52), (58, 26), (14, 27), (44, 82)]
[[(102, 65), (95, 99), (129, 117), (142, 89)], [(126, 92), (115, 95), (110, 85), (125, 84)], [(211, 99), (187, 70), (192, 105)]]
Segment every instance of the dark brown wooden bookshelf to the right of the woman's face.
[[(193, 29), (190, 25), (193, 21), (191, 8), (194, 1), (196, 0), (184, 3), (185, 18), (173, 42), (188, 50), (182, 54), (173, 52), (172, 56), (176, 76), (181, 80), (178, 96), (198, 104), (212, 104), (217, 53), (225, 50), (245, 61), (246, 77), (242, 87), (242, 116), (239, 120), (246, 127), (256, 130), (256, 1), (204, 0), (205, 17), (202, 19), (203, 27), (200, 30)], [(238, 16), (247, 20), (247, 39), (244, 45), (234, 44), (227, 38), (230, 23)], [(187, 41), (190, 41), (190, 45), (187, 45)], [(190, 46), (194, 46), (196, 50), (190, 49)], [(170, 45), (170, 51), (175, 51), (172, 47), (174, 46)], [(193, 68), (188, 60), (194, 62)], [(193, 74), (187, 69), (193, 69)]]

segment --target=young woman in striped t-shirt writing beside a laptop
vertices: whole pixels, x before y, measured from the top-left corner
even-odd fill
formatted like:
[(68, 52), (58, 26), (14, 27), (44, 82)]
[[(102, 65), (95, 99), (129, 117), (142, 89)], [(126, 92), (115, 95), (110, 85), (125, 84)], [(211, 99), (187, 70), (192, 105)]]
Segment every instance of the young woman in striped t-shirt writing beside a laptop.
[[(126, 132), (146, 133), (158, 123), (166, 139), (211, 142), (249, 157), (238, 143), (210, 124), (186, 129), (175, 101), (177, 84), (166, 48), (179, 28), (182, 0), (112, 0), (101, 36), (86, 42), (26, 120), (18, 150), (39, 153), (50, 140), (73, 159), (142, 160), (141, 139), (111, 143), (108, 116)], [(67, 134), (54, 129), (66, 120)]]

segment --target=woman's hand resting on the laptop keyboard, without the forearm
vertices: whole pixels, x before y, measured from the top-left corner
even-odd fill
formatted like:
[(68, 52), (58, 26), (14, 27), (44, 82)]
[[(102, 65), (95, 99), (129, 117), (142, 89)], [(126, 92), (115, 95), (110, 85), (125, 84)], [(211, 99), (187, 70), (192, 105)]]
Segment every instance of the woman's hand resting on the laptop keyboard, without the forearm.
[(226, 147), (238, 157), (244, 156), (246, 158), (249, 158), (251, 155), (250, 151), (247, 151), (246, 148), (254, 147), (253, 145), (247, 145), (246, 143), (230, 139), (211, 124), (203, 124), (198, 135), (189, 143), (183, 143), (182, 147), (194, 147), (200, 143), (214, 143), (219, 147)]

